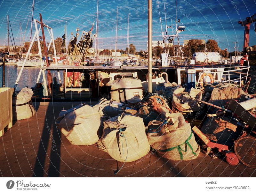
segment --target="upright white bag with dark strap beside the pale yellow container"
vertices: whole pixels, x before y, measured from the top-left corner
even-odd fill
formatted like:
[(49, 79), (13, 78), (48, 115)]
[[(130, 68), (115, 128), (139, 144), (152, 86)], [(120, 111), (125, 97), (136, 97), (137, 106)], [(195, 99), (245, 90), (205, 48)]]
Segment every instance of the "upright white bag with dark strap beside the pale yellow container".
[(22, 88), (12, 100), (13, 120), (28, 119), (35, 115), (36, 109), (32, 103), (31, 97), (33, 91), (30, 88)]

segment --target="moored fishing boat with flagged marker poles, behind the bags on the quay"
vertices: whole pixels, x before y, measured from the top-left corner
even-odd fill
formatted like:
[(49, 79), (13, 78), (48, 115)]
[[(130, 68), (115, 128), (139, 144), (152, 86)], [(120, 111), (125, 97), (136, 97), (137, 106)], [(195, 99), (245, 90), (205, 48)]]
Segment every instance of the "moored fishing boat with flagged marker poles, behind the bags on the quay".
[[(116, 17), (116, 46), (117, 46), (117, 21), (118, 21), (118, 8)], [(109, 95), (109, 88), (107, 83), (117, 78), (137, 77), (145, 85), (143, 87), (144, 92), (148, 91), (147, 82), (149, 78), (148, 66), (132, 65), (133, 58), (129, 58), (130, 61), (124, 64), (120, 59), (118, 60), (115, 54), (113, 60), (110, 60), (107, 64), (103, 65), (90, 65), (88, 64), (88, 50), (92, 47), (92, 42), (95, 41), (96, 35), (92, 35), (94, 22), (89, 32), (83, 31), (81, 38), (77, 44), (79, 36), (79, 28), (76, 28), (76, 35), (72, 36), (69, 41), (67, 58), (65, 64), (56, 64), (52, 66), (44, 66), (41, 68), (43, 72), (48, 71), (63, 71), (64, 83), (61, 85), (63, 89), (61, 91), (53, 90), (53, 93), (44, 92), (45, 97), (54, 98), (101, 98), (102, 96)], [(177, 25), (177, 24), (176, 24)], [(169, 41), (171, 38), (178, 38), (178, 33), (184, 31), (184, 27), (177, 25), (176, 34), (169, 36), (165, 27), (165, 33), (163, 38), (165, 41)], [(178, 41), (179, 42), (179, 41)], [(167, 44), (168, 45), (168, 44)], [(168, 47), (167, 47), (168, 48)], [(178, 48), (180, 49), (180, 48)], [(116, 47), (115, 47), (116, 51)], [(168, 58), (167, 64), (163, 65), (166, 58), (161, 57), (162, 65), (155, 65), (152, 67), (152, 78), (155, 82), (155, 87), (164, 82), (175, 82), (181, 87), (190, 89), (192, 86), (195, 88), (202, 87), (203, 84), (208, 83), (233, 83), (237, 86), (243, 86), (248, 84), (249, 79), (248, 72), (250, 66), (239, 66), (235, 64), (192, 64), (188, 60), (184, 59), (182, 52), (177, 59), (177, 55), (166, 56)], [(164, 53), (167, 54), (167, 53)], [(170, 59), (170, 60), (169, 60)], [(181, 61), (183, 60), (183, 61)], [(249, 63), (248, 63), (249, 65)], [(43, 73), (44, 74), (44, 73)], [(40, 80), (40, 77), (37, 78)], [(60, 79), (60, 78), (59, 78)], [(47, 85), (46, 83), (44, 85)], [(191, 86), (192, 85), (192, 86)], [(154, 90), (155, 91), (155, 90)], [(154, 92), (153, 91), (153, 92)], [(37, 95), (37, 94), (36, 94)], [(39, 94), (38, 94), (39, 95)]]

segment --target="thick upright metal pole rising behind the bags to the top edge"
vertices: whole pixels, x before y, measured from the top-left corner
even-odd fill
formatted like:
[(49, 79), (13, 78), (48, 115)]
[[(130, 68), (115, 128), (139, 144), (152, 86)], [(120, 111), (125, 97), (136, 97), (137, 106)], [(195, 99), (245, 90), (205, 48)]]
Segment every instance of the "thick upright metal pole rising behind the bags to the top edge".
[(152, 0), (148, 0), (148, 92), (152, 90)]

